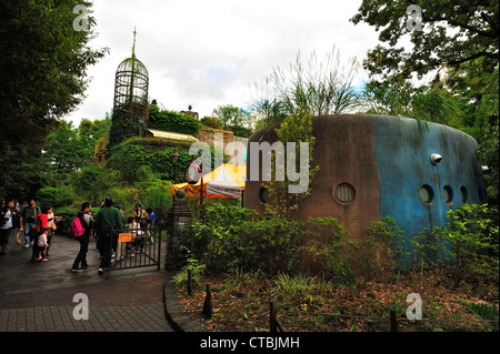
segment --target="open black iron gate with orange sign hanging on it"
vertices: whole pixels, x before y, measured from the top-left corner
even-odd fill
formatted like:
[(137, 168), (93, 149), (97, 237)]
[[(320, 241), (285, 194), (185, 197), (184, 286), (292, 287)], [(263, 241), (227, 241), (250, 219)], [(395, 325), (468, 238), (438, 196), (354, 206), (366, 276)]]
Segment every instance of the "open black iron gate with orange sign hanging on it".
[[(164, 230), (158, 227), (113, 229), (111, 249), (114, 256), (110, 270), (124, 270), (161, 264), (161, 236)], [(114, 244), (113, 244), (114, 243)]]

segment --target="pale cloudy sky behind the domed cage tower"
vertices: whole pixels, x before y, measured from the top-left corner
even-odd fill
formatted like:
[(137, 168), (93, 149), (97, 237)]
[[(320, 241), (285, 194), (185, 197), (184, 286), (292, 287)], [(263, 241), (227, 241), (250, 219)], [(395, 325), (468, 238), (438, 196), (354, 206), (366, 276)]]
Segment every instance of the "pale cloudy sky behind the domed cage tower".
[[(349, 21), (361, 0), (94, 0), (92, 48), (109, 53), (88, 70), (86, 99), (64, 120), (104, 119), (113, 104), (114, 74), (131, 55), (149, 72), (149, 101), (166, 110), (192, 105), (199, 117), (220, 105), (248, 109), (272, 68), (289, 68), (298, 53), (318, 60), (333, 48), (362, 61), (378, 43), (374, 28)], [(356, 84), (366, 80), (360, 70)]]

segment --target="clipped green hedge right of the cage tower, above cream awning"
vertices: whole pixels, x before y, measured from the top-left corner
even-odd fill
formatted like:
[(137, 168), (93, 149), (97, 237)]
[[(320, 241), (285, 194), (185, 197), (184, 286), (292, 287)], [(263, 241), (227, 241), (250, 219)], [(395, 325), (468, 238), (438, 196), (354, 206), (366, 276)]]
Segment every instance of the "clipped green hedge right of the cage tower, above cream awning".
[(148, 128), (197, 135), (200, 132), (201, 123), (189, 114), (162, 111), (157, 105), (150, 105)]

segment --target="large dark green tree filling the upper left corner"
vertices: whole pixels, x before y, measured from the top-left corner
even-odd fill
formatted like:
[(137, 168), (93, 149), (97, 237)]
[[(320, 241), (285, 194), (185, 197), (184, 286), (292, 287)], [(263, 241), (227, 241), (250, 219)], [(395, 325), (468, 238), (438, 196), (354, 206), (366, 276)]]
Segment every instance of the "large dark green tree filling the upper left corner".
[[(4, 0), (0, 2), (0, 154), (24, 144), (42, 145), (58, 119), (83, 100), (87, 69), (107, 49), (87, 47), (96, 21), (88, 30), (73, 28), (90, 9), (82, 0)], [(78, 11), (77, 11), (78, 12)]]

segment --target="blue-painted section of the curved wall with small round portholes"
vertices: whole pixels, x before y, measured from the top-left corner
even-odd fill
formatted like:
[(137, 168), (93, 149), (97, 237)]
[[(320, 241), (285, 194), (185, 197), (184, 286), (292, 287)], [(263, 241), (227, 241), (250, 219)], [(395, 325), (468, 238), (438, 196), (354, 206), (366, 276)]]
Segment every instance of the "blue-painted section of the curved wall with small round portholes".
[[(450, 209), (462, 204), (460, 188), (468, 191), (467, 202), (484, 203), (481, 166), (470, 135), (456, 129), (428, 123), (419, 128), (413, 119), (370, 115), (376, 135), (374, 159), (380, 174), (380, 218), (391, 215), (402, 223), (406, 237), (424, 229), (443, 225)], [(442, 155), (438, 165), (431, 153)], [(420, 188), (431, 186), (433, 201), (424, 204)], [(453, 202), (443, 200), (443, 188), (453, 191)]]

